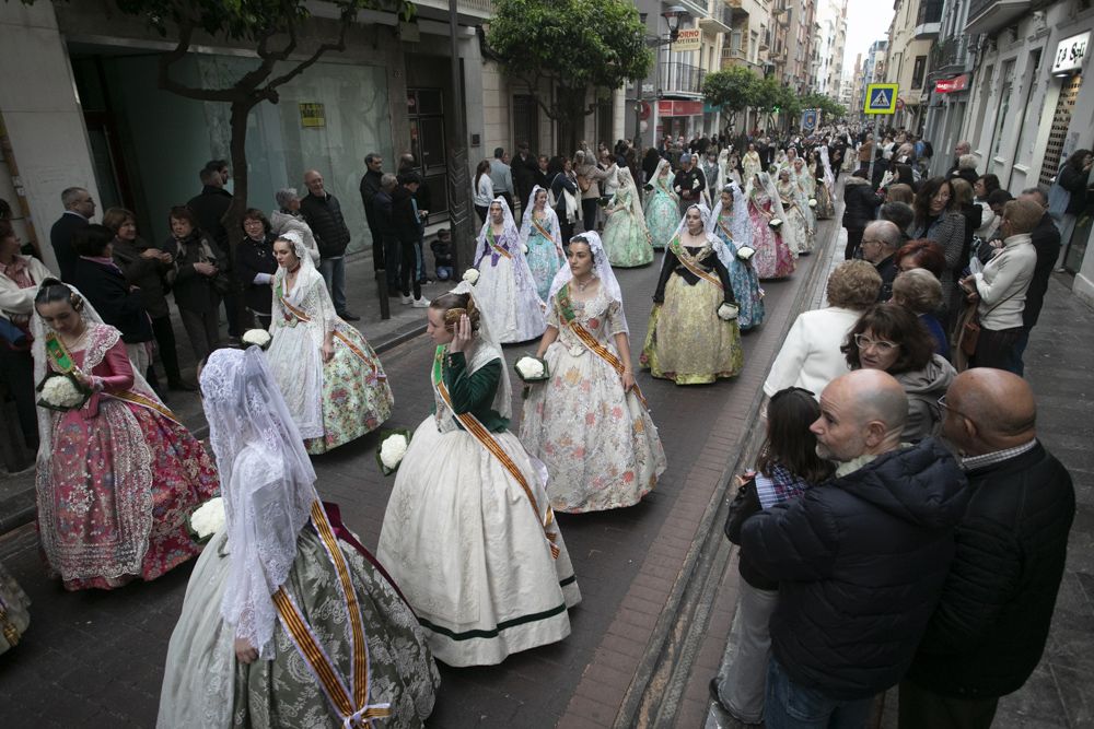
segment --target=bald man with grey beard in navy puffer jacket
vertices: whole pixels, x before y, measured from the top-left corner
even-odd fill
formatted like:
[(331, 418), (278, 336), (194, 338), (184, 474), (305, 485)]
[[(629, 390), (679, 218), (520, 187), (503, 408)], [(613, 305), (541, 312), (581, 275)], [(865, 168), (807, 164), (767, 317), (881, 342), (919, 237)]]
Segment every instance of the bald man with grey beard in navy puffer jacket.
[(810, 430), (817, 452), (838, 462), (836, 477), (742, 529), (742, 551), (779, 581), (769, 727), (864, 726), (874, 695), (900, 680), (916, 652), (967, 496), (956, 461), (933, 438), (901, 445), (907, 416), (891, 375), (834, 379)]

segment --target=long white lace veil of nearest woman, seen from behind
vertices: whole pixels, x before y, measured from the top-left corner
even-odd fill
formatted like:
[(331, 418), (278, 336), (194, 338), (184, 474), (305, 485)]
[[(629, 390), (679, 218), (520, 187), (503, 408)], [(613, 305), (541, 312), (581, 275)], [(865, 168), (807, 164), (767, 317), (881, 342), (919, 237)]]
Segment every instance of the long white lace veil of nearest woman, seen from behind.
[(220, 612), (235, 637), (272, 659), (271, 596), (289, 577), (296, 538), (318, 498), (315, 470), (257, 346), (209, 355), (201, 395), (232, 560)]

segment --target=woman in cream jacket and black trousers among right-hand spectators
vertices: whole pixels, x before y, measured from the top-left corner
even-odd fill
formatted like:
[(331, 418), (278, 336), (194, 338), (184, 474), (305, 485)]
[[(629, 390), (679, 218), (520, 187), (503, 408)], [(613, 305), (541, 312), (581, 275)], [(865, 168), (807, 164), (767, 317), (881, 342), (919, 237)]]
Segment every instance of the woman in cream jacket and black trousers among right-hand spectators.
[(999, 224), (1003, 234), (1002, 249), (988, 261), (984, 271), (961, 282), (968, 292), (968, 301), (976, 304), (980, 325), (975, 348), (965, 348), (973, 367), (1021, 372), (1016, 344), (1023, 332), (1026, 291), (1037, 266), (1037, 250), (1029, 234), (1044, 212), (1032, 200), (1008, 202)]

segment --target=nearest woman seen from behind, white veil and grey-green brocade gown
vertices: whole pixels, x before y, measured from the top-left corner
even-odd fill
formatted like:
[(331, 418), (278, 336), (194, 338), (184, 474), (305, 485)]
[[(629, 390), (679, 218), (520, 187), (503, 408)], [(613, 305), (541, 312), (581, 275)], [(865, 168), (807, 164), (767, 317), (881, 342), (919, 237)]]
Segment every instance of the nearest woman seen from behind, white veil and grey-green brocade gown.
[[(198, 558), (167, 646), (160, 729), (420, 729), (440, 677), (414, 612), (319, 502), (303, 439), (258, 348), (201, 372), (225, 522)], [(271, 593), (272, 592), (272, 593)]]

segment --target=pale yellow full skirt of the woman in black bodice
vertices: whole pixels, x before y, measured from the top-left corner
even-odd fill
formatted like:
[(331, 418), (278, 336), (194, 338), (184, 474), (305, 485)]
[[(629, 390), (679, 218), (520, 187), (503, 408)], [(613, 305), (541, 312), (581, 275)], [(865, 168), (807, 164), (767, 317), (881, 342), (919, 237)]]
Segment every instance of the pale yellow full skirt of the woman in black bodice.
[(641, 364), (654, 377), (677, 385), (703, 385), (736, 377), (744, 365), (741, 329), (718, 318), (722, 292), (700, 281), (688, 285), (673, 274), (665, 303), (654, 305)]

